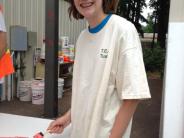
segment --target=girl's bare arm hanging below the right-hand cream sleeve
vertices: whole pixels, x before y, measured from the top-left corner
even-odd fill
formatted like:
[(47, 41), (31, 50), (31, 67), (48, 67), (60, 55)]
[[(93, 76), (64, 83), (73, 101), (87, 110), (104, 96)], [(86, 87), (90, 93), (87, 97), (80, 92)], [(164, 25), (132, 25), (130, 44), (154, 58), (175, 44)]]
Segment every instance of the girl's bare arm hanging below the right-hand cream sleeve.
[(122, 138), (138, 103), (139, 100), (134, 99), (124, 100), (122, 102), (109, 138)]

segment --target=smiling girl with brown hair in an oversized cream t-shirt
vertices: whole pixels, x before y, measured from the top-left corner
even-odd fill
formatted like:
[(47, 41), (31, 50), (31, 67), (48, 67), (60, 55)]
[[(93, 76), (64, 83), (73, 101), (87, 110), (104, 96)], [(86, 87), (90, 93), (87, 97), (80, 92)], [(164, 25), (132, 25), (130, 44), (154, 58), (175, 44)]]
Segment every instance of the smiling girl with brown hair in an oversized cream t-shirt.
[(48, 130), (71, 138), (129, 138), (139, 99), (150, 98), (139, 36), (132, 23), (112, 14), (118, 0), (71, 0), (70, 16), (89, 27), (76, 43), (72, 106)]

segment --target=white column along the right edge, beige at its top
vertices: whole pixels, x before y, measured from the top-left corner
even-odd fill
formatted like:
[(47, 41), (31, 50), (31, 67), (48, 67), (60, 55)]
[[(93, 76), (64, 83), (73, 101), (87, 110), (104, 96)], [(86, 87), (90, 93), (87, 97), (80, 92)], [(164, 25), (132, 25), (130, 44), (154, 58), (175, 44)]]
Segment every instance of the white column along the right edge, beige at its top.
[(184, 0), (171, 0), (160, 138), (184, 138)]

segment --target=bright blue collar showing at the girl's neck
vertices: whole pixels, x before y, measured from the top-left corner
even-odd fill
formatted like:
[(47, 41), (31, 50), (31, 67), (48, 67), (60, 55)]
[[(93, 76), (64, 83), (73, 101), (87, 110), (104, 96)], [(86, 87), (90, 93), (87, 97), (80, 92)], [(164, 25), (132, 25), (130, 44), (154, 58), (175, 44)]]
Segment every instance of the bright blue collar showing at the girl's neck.
[(90, 33), (98, 33), (100, 30), (102, 30), (102, 28), (106, 25), (106, 23), (108, 22), (108, 20), (110, 19), (112, 14), (107, 15), (107, 17), (105, 17), (105, 19), (96, 27), (94, 28), (90, 28), (89, 27), (89, 32)]

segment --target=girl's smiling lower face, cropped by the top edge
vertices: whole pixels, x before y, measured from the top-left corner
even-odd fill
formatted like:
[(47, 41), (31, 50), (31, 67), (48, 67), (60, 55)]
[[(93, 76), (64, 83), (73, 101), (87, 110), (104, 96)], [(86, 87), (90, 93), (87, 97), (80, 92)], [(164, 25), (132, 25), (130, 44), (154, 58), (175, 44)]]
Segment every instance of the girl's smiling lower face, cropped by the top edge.
[(88, 21), (104, 15), (103, 0), (74, 0), (78, 12)]

